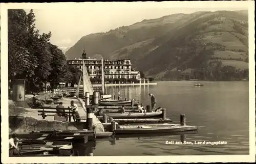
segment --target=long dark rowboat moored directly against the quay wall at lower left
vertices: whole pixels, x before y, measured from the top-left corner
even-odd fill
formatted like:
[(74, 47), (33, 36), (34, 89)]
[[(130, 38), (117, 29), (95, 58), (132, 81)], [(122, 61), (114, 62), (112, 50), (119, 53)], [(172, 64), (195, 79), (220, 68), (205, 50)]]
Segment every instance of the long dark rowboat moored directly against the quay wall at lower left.
[[(33, 140), (51, 140), (51, 141), (69, 141), (69, 142), (87, 142), (95, 140), (94, 131), (87, 130), (65, 130), (65, 131), (32, 131), (29, 133), (17, 133), (20, 139)], [(11, 134), (9, 134), (9, 137)]]

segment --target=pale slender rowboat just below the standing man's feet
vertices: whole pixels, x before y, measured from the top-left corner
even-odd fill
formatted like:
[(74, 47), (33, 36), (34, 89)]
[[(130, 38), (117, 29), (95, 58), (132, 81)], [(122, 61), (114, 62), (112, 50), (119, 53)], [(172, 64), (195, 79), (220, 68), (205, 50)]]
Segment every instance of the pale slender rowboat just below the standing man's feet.
[(113, 119), (129, 119), (129, 118), (150, 118), (161, 116), (163, 114), (162, 111), (157, 112), (148, 112), (148, 113), (108, 113), (106, 114)]

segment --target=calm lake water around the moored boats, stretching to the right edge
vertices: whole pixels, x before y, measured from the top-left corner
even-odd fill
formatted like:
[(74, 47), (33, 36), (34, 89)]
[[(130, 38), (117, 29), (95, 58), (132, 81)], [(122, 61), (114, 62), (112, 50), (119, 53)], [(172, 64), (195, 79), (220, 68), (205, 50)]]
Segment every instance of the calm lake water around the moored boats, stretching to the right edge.
[[(194, 87), (195, 83), (204, 86)], [(185, 135), (185, 141), (227, 144), (165, 144), (181, 141), (180, 135), (106, 139), (96, 141), (94, 156), (249, 154), (248, 81), (159, 81), (156, 86), (108, 87), (107, 93), (144, 105), (150, 104), (148, 93), (153, 93), (157, 107), (166, 108), (167, 118), (179, 123), (180, 114), (185, 114), (187, 125), (199, 126), (198, 133)]]

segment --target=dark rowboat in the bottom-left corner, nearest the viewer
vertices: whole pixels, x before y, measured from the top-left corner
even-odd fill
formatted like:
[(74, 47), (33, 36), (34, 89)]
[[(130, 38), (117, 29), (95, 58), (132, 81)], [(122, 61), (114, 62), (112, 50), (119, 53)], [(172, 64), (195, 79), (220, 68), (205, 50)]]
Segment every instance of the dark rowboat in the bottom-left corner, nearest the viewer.
[[(73, 145), (71, 142), (20, 140), (18, 142), (19, 155), (16, 156), (56, 156), (63, 154), (71, 155)], [(61, 153), (60, 153), (61, 152)]]

